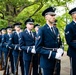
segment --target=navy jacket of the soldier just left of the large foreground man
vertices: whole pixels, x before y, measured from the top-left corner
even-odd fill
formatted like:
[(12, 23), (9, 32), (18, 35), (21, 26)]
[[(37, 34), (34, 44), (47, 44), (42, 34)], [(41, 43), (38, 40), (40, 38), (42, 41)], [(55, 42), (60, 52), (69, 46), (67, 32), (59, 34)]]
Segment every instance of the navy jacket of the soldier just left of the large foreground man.
[[(31, 37), (28, 31), (25, 30), (24, 32), (20, 33), (19, 42), (20, 42), (20, 48), (23, 51), (23, 60), (30, 61), (32, 57), (31, 47), (35, 45), (34, 34)], [(29, 47), (29, 52), (27, 52), (28, 47)]]

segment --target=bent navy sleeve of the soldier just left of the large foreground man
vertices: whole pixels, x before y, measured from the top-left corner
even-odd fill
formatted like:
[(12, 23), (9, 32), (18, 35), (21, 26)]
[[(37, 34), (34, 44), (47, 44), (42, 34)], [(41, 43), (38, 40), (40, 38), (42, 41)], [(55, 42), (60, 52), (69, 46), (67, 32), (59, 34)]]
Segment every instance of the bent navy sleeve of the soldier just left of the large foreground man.
[(31, 53), (32, 46), (26, 46), (25, 45), (24, 37), (23, 37), (22, 33), (20, 33), (19, 45), (20, 45), (21, 50), (24, 50), (25, 52)]

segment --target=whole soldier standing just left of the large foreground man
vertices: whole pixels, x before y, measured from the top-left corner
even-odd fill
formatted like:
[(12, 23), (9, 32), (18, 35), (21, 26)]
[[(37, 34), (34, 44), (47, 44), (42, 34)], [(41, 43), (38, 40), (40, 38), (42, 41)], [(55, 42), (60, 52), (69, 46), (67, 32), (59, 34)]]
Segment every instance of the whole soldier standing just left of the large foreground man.
[[(35, 53), (35, 37), (32, 32), (32, 29), (34, 28), (34, 19), (28, 18), (25, 21), (25, 25), (26, 29), (20, 34), (20, 49), (23, 51), (24, 75), (30, 75), (32, 69), (30, 65), (33, 61), (32, 53)], [(35, 68), (33, 68), (33, 71), (35, 71)]]

